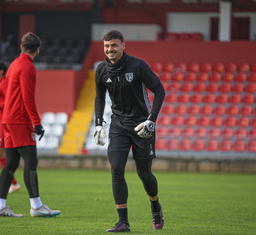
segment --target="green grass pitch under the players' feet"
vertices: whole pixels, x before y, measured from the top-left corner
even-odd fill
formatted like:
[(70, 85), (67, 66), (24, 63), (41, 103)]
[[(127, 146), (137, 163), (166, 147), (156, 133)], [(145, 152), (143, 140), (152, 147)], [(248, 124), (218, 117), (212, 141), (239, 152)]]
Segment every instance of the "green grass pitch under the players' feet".
[[(256, 175), (155, 172), (165, 225), (151, 229), (151, 208), (142, 182), (126, 172), (132, 234), (256, 234)], [(41, 200), (60, 209), (55, 218), (33, 218), (23, 170), (21, 190), (7, 205), (23, 218), (0, 217), (0, 234), (106, 234), (118, 221), (110, 171), (38, 170)]]

